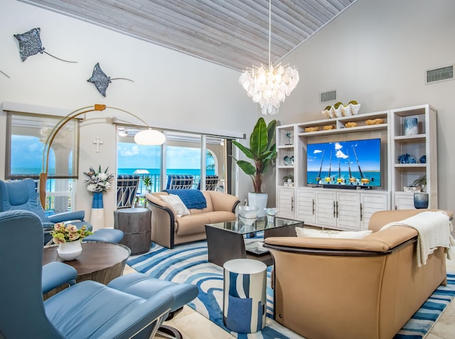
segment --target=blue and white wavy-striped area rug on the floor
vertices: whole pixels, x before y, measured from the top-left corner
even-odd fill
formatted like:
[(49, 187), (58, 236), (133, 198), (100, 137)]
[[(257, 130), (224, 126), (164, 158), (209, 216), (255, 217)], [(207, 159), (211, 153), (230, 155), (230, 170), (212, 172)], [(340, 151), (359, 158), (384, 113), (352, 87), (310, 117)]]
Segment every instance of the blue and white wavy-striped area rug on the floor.
[[(267, 268), (267, 325), (257, 333), (234, 333), (223, 324), (223, 268), (208, 262), (207, 242), (178, 245), (173, 249), (151, 244), (150, 252), (131, 257), (127, 264), (154, 278), (198, 286), (198, 298), (188, 303), (198, 313), (213, 321), (239, 339), (299, 339), (273, 318), (273, 290), (270, 287), (272, 267)], [(394, 339), (420, 339), (432, 328), (434, 321), (455, 295), (455, 274), (447, 274), (447, 286), (430, 296)]]

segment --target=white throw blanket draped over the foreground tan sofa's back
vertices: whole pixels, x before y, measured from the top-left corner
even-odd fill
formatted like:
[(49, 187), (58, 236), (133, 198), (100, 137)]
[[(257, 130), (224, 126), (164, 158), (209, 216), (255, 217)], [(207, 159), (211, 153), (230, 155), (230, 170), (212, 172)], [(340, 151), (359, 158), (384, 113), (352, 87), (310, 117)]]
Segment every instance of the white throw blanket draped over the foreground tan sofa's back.
[(418, 267), (427, 264), (429, 254), (432, 254), (437, 247), (444, 247), (447, 258), (450, 259), (450, 247), (454, 245), (454, 239), (450, 234), (452, 225), (446, 212), (420, 212), (405, 220), (389, 222), (380, 230), (391, 226), (412, 227), (419, 232), (417, 236)]

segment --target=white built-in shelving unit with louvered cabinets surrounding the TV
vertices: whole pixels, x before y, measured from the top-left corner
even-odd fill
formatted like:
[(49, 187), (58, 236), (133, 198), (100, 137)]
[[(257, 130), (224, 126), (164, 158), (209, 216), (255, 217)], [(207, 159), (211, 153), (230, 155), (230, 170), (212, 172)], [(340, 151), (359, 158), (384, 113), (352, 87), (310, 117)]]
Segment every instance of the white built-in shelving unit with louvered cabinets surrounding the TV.
[[(417, 117), (419, 134), (405, 135), (405, 117)], [(381, 122), (366, 124), (375, 119)], [(380, 187), (327, 189), (306, 183), (308, 144), (373, 138), (381, 139)], [(417, 163), (400, 163), (398, 156), (405, 153)], [(419, 163), (422, 155), (427, 163)], [(286, 183), (285, 176), (293, 176), (293, 183)], [(282, 217), (339, 230), (366, 230), (377, 210), (414, 208), (414, 195), (404, 188), (422, 176), (427, 176), (429, 208), (437, 208), (436, 110), (428, 104), (277, 127), (277, 208)]]

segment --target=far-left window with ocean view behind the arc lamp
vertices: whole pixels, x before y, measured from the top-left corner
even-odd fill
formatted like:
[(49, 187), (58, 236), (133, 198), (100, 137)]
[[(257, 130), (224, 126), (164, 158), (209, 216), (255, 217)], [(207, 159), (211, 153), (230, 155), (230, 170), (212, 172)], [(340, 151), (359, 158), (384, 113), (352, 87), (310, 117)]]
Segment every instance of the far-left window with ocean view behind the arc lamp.
[[(33, 178), (38, 181), (42, 171), (43, 147), (50, 129), (60, 117), (8, 112), (5, 177), (11, 180)], [(47, 181), (48, 213), (65, 212), (73, 208), (73, 185), (77, 176), (78, 122), (73, 121), (55, 138), (50, 149)]]

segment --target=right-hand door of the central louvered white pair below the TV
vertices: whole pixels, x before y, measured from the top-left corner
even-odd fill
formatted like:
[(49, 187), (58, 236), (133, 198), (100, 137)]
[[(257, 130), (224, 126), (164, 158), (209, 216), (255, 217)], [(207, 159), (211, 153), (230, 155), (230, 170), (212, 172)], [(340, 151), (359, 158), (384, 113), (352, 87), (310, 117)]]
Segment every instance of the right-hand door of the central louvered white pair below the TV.
[(336, 220), (341, 230), (360, 230), (360, 194), (336, 194)]

